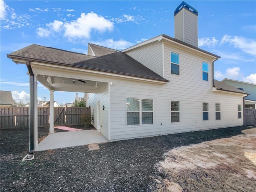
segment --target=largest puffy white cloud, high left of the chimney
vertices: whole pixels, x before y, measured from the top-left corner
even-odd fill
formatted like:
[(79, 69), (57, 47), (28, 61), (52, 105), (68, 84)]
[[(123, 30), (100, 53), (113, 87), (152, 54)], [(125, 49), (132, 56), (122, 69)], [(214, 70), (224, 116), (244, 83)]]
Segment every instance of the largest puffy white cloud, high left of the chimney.
[(88, 14), (82, 13), (78, 19), (72, 22), (64, 23), (64, 28), (64, 36), (68, 38), (89, 38), (92, 30), (112, 31), (114, 25), (110, 20), (90, 12)]

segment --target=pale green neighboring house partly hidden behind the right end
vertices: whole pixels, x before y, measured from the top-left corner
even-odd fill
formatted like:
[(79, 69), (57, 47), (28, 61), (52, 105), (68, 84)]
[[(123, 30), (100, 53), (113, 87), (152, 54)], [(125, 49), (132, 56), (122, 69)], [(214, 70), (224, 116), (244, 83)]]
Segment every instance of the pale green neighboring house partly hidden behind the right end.
[(256, 109), (256, 84), (227, 78), (223, 79), (221, 82), (249, 93), (250, 95), (244, 98), (244, 107)]

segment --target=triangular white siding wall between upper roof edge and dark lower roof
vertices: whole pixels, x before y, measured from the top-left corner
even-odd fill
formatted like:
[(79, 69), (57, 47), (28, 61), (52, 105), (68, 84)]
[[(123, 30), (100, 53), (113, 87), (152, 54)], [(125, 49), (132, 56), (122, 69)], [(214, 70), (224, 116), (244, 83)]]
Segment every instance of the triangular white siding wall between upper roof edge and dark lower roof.
[(147, 68), (163, 76), (162, 43), (153, 43), (125, 52)]

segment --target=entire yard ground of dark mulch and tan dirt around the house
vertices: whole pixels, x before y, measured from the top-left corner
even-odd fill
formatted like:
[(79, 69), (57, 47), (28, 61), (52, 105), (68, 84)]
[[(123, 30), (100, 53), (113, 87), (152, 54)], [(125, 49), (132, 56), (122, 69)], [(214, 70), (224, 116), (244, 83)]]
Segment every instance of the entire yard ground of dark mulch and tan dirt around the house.
[[(38, 138), (48, 135), (38, 129)], [(0, 191), (255, 192), (256, 131), (246, 126), (28, 154), (29, 129), (1, 130)]]

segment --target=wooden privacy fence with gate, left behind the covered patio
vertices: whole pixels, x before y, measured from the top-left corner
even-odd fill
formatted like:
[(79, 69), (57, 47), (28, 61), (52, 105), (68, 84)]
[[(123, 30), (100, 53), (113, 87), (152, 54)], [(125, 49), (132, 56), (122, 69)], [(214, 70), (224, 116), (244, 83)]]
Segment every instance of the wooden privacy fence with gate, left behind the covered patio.
[[(0, 128), (29, 127), (29, 107), (2, 107)], [(91, 114), (89, 107), (54, 107), (54, 126), (83, 124), (82, 114)], [(38, 107), (38, 127), (50, 126), (50, 108)]]

